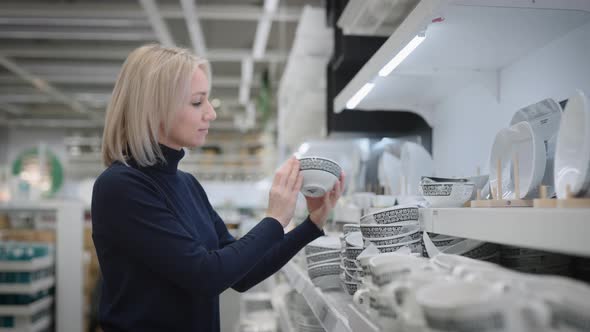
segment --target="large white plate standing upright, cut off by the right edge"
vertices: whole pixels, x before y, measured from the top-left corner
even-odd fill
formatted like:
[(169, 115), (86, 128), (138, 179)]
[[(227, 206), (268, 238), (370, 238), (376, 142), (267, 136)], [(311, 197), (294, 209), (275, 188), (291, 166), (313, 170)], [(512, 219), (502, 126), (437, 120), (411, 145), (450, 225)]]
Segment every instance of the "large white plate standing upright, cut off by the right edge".
[(582, 91), (568, 100), (561, 118), (553, 176), (561, 199), (567, 186), (575, 196), (590, 187), (590, 101)]

